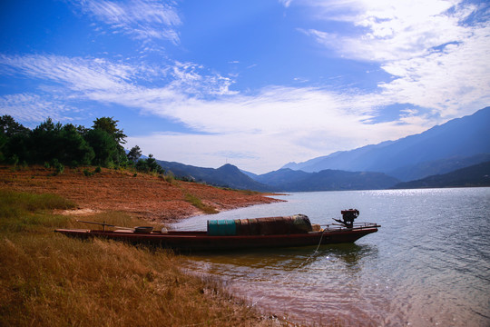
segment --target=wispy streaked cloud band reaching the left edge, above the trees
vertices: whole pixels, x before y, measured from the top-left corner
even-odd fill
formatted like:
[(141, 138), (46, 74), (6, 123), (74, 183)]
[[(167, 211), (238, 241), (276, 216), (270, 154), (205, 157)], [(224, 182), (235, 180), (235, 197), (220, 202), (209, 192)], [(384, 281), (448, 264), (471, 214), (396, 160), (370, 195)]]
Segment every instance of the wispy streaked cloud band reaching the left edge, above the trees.
[[(0, 72), (25, 75), (39, 81), (49, 81), (73, 92), (90, 94), (152, 93), (186, 94), (207, 97), (232, 94), (228, 77), (208, 72), (199, 64), (169, 62), (162, 66), (126, 64), (102, 58), (66, 57), (61, 55), (0, 54)], [(142, 84), (162, 84), (144, 87)]]

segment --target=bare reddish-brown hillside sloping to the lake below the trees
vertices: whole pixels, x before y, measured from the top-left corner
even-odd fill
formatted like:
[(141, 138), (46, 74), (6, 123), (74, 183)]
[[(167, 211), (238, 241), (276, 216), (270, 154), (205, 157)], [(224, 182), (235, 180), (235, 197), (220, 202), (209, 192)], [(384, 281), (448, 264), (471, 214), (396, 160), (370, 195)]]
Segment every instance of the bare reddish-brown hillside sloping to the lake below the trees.
[(53, 170), (41, 166), (0, 166), (0, 188), (59, 194), (79, 205), (75, 213), (115, 210), (163, 223), (202, 210), (230, 210), (278, 201), (260, 193), (223, 190), (123, 170), (103, 168), (101, 173), (85, 176), (82, 168), (65, 168), (64, 173), (53, 174)]

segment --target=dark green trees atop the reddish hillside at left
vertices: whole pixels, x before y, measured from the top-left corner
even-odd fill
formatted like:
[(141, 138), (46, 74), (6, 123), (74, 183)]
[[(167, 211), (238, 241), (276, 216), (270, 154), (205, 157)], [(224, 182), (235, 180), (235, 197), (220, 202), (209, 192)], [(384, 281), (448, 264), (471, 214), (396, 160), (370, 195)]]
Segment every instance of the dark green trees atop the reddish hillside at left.
[(54, 124), (51, 118), (33, 130), (15, 122), (10, 115), (0, 117), (0, 163), (51, 164), (70, 167), (96, 165), (109, 168), (134, 167), (138, 171), (164, 173), (153, 158), (141, 159), (138, 145), (126, 154), (127, 137), (113, 117), (97, 118), (92, 128)]

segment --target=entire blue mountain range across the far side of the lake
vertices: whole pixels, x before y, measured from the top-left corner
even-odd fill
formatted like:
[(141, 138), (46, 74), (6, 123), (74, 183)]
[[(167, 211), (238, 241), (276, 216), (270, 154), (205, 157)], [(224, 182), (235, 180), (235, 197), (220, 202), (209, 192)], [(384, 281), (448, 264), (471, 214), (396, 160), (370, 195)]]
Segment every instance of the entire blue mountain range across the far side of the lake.
[(400, 182), (490, 161), (488, 125), (490, 107), (485, 107), (421, 134), (338, 151), (304, 163), (287, 163), (277, 171), (260, 175), (229, 163), (217, 169), (158, 163), (192, 181), (261, 192), (388, 189)]

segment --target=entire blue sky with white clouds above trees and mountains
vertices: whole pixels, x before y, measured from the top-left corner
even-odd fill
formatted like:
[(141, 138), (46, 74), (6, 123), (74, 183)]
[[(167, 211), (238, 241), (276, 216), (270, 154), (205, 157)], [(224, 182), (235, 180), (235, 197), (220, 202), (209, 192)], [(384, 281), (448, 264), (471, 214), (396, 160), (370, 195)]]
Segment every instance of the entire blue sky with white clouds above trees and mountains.
[(0, 114), (111, 116), (158, 159), (267, 173), (490, 103), (490, 5), (3, 0)]

